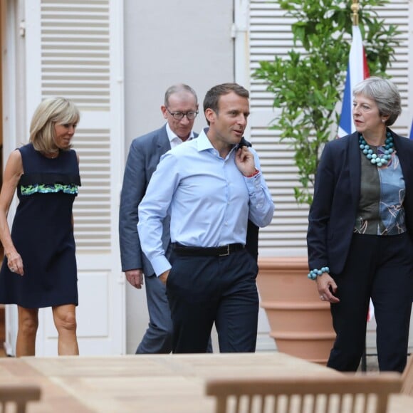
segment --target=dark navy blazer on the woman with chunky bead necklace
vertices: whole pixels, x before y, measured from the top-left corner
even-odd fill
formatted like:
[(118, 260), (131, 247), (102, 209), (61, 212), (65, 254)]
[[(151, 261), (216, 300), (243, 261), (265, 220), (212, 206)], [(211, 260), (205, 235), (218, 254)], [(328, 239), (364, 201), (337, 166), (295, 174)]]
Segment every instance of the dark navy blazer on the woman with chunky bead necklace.
[[(406, 185), (407, 231), (413, 238), (413, 141), (392, 133)], [(329, 266), (332, 273), (343, 271), (360, 199), (360, 156), (357, 132), (325, 145), (308, 216), (310, 269)]]

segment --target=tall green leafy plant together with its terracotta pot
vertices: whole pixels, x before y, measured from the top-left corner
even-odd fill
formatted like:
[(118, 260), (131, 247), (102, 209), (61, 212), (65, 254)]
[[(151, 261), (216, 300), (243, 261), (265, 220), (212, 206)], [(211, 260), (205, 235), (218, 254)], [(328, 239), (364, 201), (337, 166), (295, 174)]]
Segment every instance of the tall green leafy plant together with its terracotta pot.
[[(311, 204), (320, 152), (337, 135), (350, 51), (351, 14), (358, 11), (358, 4), (354, 0), (352, 4), (347, 1), (347, 5), (340, 0), (278, 0), (278, 3), (286, 16), (296, 21), (291, 26), (295, 47), (287, 58), (276, 56), (273, 61), (261, 61), (253, 76), (263, 80), (267, 90), (273, 93), (273, 107), (280, 109), (271, 128), (280, 130), (281, 140), (293, 147), (300, 183), (300, 187), (294, 188), (296, 200), (298, 204)], [(397, 28), (387, 25), (374, 9), (387, 3), (387, 0), (365, 0), (359, 14), (370, 75), (385, 76), (398, 44)], [(320, 302), (314, 284), (307, 280), (305, 257), (261, 258), (259, 268), (261, 305), (266, 308), (278, 350), (308, 360), (327, 360), (335, 338), (330, 307)], [(273, 281), (278, 284), (270, 286)], [(292, 298), (288, 298), (289, 292)], [(278, 295), (278, 300), (274, 301), (270, 294)], [(315, 310), (318, 316), (310, 315), (309, 310)], [(282, 315), (289, 320), (283, 321)], [(315, 326), (313, 317), (321, 319), (324, 327)], [(298, 349), (300, 344), (305, 346), (304, 350)], [(315, 355), (317, 348), (320, 355)]]

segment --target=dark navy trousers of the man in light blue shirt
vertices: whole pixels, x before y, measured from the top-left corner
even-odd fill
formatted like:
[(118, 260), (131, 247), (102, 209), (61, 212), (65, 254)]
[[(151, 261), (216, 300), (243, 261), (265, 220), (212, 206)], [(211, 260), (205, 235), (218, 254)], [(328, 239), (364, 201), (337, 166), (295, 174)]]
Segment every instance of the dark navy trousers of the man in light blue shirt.
[(221, 352), (254, 352), (258, 268), (252, 256), (245, 249), (229, 256), (172, 253), (170, 262), (172, 352), (206, 352), (214, 323)]

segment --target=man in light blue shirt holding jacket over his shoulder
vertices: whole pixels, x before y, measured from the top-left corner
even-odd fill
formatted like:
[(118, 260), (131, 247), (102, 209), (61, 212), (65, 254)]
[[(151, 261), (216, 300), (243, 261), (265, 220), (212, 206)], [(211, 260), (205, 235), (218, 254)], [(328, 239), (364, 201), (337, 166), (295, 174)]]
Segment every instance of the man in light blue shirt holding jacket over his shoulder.
[[(204, 99), (209, 128), (167, 152), (139, 206), (142, 251), (167, 285), (173, 352), (205, 352), (215, 322), (221, 352), (253, 352), (258, 293), (256, 261), (244, 248), (247, 221), (266, 226), (274, 205), (256, 152), (239, 143), (249, 93), (236, 83)], [(170, 216), (174, 249), (162, 246)]]

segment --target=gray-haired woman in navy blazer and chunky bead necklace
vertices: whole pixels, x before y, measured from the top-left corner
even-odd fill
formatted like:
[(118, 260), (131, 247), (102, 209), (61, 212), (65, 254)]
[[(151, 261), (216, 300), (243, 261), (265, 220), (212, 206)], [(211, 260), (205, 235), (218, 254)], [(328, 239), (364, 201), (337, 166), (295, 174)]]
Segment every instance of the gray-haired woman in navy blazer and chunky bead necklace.
[(337, 336), (328, 366), (357, 370), (371, 297), (380, 370), (402, 372), (413, 298), (413, 141), (389, 128), (401, 113), (389, 80), (363, 80), (353, 97), (356, 132), (328, 142), (320, 158), (308, 277), (330, 302)]

